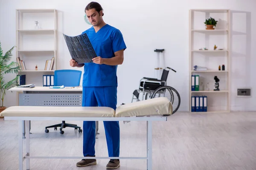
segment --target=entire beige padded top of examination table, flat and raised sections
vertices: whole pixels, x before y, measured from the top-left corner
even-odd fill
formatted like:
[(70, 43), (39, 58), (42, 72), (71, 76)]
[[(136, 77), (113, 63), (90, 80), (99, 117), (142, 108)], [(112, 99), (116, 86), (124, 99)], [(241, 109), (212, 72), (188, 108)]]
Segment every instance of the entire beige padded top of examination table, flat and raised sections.
[(166, 97), (128, 103), (116, 108), (73, 106), (11, 106), (1, 116), (32, 117), (131, 117), (172, 114), (172, 103)]

